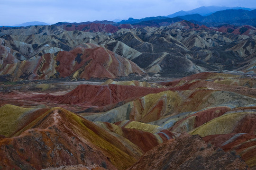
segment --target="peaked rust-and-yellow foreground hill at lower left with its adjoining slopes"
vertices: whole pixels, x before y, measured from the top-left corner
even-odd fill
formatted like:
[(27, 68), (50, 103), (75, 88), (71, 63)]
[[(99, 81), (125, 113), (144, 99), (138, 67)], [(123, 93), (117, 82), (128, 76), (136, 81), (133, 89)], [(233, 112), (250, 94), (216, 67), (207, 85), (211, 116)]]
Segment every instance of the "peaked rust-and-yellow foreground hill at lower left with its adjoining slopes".
[(62, 108), (4, 105), (0, 118), (0, 134), (5, 135), (0, 136), (0, 167), (5, 170), (70, 165), (124, 170), (146, 151), (174, 137), (167, 130), (154, 134), (110, 123), (101, 127)]

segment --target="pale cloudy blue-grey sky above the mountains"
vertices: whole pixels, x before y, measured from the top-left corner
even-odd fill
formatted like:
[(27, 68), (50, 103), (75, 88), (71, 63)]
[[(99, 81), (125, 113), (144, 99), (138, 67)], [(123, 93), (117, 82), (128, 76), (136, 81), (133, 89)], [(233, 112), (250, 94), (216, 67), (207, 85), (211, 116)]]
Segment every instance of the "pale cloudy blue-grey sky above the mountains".
[(256, 8), (256, 0), (0, 0), (0, 26), (167, 16), (201, 6)]

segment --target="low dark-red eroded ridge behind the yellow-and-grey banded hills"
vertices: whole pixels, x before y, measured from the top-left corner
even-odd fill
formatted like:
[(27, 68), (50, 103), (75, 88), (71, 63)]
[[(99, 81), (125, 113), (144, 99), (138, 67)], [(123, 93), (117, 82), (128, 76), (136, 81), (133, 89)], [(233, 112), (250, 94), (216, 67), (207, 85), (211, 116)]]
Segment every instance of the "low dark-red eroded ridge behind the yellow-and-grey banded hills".
[(126, 100), (134, 100), (150, 93), (159, 93), (167, 88), (140, 87), (131, 85), (78, 85), (71, 92), (56, 96), (51, 94), (29, 97), (35, 101), (76, 104), (81, 106), (106, 106)]

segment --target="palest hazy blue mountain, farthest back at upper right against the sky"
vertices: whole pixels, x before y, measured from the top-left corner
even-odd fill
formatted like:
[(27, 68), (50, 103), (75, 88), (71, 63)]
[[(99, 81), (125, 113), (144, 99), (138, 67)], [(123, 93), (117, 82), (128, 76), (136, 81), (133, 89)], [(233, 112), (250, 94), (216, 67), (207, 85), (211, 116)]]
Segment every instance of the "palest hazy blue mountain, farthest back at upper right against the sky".
[(166, 17), (177, 17), (177, 16), (185, 16), (191, 14), (200, 14), (201, 16), (208, 16), (214, 12), (226, 10), (226, 9), (244, 9), (244, 10), (252, 10), (250, 8), (243, 8), (243, 7), (218, 7), (218, 6), (209, 6), (209, 7), (199, 7), (189, 11), (179, 11), (175, 12), (174, 14), (168, 15)]

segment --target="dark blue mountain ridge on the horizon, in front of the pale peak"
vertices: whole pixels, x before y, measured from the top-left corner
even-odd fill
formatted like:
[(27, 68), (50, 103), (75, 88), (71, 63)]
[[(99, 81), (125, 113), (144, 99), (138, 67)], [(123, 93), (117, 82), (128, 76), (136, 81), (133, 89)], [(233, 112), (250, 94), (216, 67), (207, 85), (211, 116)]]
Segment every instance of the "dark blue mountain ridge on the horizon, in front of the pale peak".
[[(202, 9), (205, 9), (208, 7), (202, 7)], [(241, 7), (237, 7), (241, 8)], [(215, 8), (216, 9), (216, 8)], [(248, 9), (248, 10), (246, 10)], [(199, 10), (199, 9), (198, 9)], [(193, 10), (193, 11), (198, 11)], [(201, 10), (203, 11), (203, 10)], [(209, 10), (210, 11), (210, 10)], [(201, 12), (202, 13), (202, 12)], [(182, 14), (182, 13), (181, 13)], [(185, 13), (183, 13), (185, 14)], [(190, 15), (183, 15), (178, 17), (146, 17), (141, 19), (135, 19), (135, 18), (128, 18), (128, 20), (122, 20), (118, 23), (115, 23), (113, 21), (93, 21), (93, 22), (81, 22), (81, 23), (66, 23), (66, 22), (59, 22), (56, 23), (56, 26), (64, 25), (66, 27), (70, 27), (70, 30), (73, 30), (73, 26), (81, 26), (81, 25), (90, 25), (92, 23), (94, 24), (104, 24), (104, 25), (112, 25), (112, 26), (118, 26), (120, 28), (130, 28), (132, 26), (138, 27), (138, 26), (167, 26), (174, 22), (179, 22), (182, 20), (190, 21), (194, 24), (198, 25), (205, 25), (208, 27), (212, 26), (222, 26), (222, 25), (234, 25), (234, 26), (243, 26), (243, 25), (251, 25), (256, 26), (256, 9), (251, 10), (249, 8), (245, 9), (226, 9), (214, 12), (208, 16), (202, 16), (200, 14), (190, 14)], [(132, 26), (124, 26), (130, 24)], [(76, 27), (76, 29), (80, 29)], [(82, 30), (81, 30), (82, 31)]]

